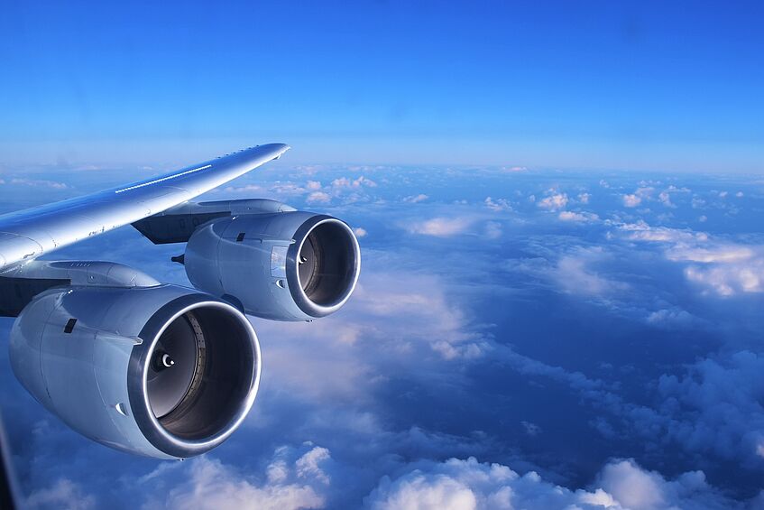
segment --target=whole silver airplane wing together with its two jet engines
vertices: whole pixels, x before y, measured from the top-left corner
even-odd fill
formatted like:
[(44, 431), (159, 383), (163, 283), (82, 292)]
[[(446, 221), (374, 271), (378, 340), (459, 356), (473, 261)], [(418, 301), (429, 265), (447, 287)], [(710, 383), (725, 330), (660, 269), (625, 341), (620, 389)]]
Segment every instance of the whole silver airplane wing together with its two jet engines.
[[(289, 150), (266, 144), (160, 177), (0, 216), (0, 315), (15, 317), (15, 376), (69, 427), (106, 446), (189, 458), (249, 413), (260, 345), (245, 314), (313, 320), (339, 310), (361, 254), (339, 219), (267, 199), (192, 202)], [(108, 262), (41, 261), (132, 224), (185, 243), (194, 288)]]

